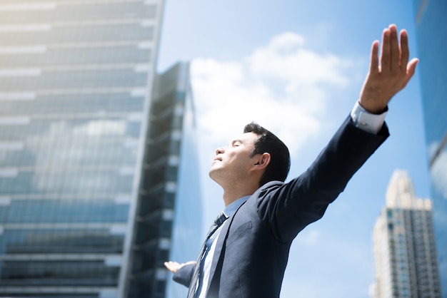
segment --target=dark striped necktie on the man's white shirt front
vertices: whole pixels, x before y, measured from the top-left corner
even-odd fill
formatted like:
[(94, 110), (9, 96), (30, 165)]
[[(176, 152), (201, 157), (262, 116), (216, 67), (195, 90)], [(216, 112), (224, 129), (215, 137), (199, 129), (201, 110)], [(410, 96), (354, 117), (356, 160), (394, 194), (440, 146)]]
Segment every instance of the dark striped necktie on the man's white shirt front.
[(202, 281), (204, 279), (204, 277), (201, 277), (200, 275), (203, 274), (203, 272), (201, 272), (201, 268), (203, 268), (203, 263), (205, 262), (204, 255), (207, 249), (206, 240), (209, 240), (209, 237), (211, 237), (211, 235), (216, 232), (216, 230), (224, 223), (227, 218), (228, 217), (225, 215), (224, 211), (222, 211), (221, 213), (219, 213), (219, 215), (216, 217), (216, 220), (214, 220), (213, 224), (209, 228), (209, 232), (206, 235), (204, 244), (202, 245), (200, 250), (199, 259), (197, 260), (196, 267), (194, 268), (194, 275), (191, 279), (191, 284), (189, 284), (188, 298), (199, 297)]

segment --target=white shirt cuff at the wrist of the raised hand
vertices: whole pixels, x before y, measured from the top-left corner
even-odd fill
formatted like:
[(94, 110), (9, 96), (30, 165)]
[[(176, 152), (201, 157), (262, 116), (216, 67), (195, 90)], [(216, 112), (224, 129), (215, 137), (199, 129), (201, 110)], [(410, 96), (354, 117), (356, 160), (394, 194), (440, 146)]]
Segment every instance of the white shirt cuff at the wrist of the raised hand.
[(357, 128), (376, 135), (385, 122), (387, 112), (388, 108), (386, 108), (386, 111), (378, 115), (369, 113), (365, 108), (360, 106), (360, 103), (357, 101), (351, 111), (351, 118)]

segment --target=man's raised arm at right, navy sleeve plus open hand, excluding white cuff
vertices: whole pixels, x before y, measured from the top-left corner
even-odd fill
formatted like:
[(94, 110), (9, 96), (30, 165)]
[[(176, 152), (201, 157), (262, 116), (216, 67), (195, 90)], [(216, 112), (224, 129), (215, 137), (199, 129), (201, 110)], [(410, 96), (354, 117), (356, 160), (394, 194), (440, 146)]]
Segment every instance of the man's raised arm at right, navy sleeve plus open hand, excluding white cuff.
[[(408, 63), (406, 31), (401, 31), (399, 43), (395, 25), (383, 30), (380, 58), (378, 48), (379, 42), (374, 41), (371, 65), (359, 103), (369, 113), (381, 114), (391, 98), (410, 81), (418, 59), (414, 58)], [(377, 134), (367, 133), (357, 128), (351, 118), (346, 118), (303, 175), (290, 183), (272, 183), (266, 185), (265, 190), (259, 190), (258, 214), (261, 219), (268, 222), (278, 240), (293, 240), (303, 227), (323, 216), (328, 204), (344, 190), (352, 175), (387, 137), (386, 125)]]

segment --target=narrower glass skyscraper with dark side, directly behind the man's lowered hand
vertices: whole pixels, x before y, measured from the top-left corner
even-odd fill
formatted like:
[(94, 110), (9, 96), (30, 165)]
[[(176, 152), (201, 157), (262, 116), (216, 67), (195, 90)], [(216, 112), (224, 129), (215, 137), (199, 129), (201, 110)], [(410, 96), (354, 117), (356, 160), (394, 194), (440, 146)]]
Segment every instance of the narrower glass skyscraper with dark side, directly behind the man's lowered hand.
[[(132, 243), (126, 297), (181, 298), (166, 260), (194, 260), (201, 244), (199, 158), (189, 65), (157, 76)], [(165, 288), (168, 291), (165, 296)]]

